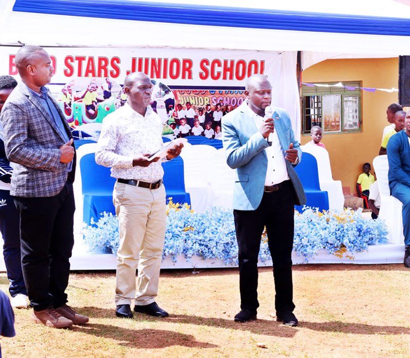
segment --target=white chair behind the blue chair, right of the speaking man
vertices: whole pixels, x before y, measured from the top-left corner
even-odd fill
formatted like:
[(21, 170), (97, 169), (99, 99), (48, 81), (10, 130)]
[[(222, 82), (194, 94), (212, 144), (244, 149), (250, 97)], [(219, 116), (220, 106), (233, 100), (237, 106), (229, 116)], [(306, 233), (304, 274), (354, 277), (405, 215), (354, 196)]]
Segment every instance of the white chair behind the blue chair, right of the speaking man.
[(316, 159), (320, 189), (327, 191), (327, 195), (329, 196), (329, 209), (343, 210), (344, 195), (342, 182), (340, 180), (333, 180), (327, 150), (311, 144), (302, 145), (301, 149), (303, 152), (312, 154)]

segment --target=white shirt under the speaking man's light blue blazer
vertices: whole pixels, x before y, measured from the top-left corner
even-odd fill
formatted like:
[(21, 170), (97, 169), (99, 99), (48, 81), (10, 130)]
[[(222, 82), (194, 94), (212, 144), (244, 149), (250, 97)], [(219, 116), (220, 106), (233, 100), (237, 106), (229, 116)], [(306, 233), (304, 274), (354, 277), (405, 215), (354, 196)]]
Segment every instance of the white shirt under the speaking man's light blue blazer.
[[(263, 117), (258, 116), (249, 106), (247, 106), (250, 115), (252, 116), (256, 128), (260, 128), (264, 121)], [(283, 149), (279, 142), (278, 133), (273, 132), (272, 145), (265, 148), (265, 153), (268, 157), (268, 168), (265, 177), (265, 186), (272, 186), (289, 180), (288, 168), (286, 168), (285, 158), (283, 156)]]

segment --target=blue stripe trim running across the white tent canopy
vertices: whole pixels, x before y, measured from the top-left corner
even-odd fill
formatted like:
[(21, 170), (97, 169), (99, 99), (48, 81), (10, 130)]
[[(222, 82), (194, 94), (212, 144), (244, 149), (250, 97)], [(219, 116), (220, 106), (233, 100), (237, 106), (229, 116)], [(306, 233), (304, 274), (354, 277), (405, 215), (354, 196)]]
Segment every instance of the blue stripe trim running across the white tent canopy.
[(16, 0), (13, 11), (173, 24), (410, 36), (410, 19), (406, 18), (131, 0)]

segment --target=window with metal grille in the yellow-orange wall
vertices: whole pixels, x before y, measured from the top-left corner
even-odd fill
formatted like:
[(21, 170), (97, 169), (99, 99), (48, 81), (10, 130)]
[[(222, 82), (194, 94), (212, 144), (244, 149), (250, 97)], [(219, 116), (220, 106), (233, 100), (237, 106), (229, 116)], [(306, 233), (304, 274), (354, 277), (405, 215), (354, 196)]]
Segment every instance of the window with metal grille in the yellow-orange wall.
[[(321, 84), (336, 84), (329, 82)], [(359, 81), (342, 82), (344, 87), (302, 85), (302, 132), (315, 125), (324, 132), (352, 132), (361, 129), (361, 89)]]

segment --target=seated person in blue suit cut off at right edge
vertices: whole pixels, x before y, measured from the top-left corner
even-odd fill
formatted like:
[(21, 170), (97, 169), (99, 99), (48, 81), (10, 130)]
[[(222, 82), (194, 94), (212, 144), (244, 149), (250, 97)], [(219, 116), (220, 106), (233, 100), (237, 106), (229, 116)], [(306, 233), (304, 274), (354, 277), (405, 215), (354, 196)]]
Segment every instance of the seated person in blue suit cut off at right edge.
[(403, 203), (404, 266), (410, 269), (410, 110), (404, 130), (387, 143), (388, 186), (391, 194)]

